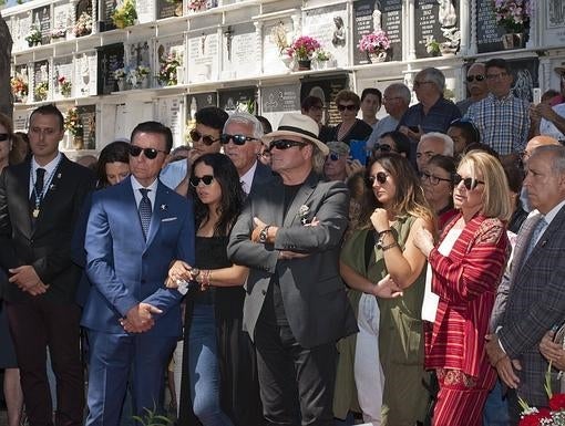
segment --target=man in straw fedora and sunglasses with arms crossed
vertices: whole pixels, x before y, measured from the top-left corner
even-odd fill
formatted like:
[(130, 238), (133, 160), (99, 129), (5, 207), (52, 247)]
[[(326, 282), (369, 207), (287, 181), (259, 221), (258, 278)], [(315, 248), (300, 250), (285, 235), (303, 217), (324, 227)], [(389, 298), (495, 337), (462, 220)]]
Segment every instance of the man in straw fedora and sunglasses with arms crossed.
[(335, 343), (357, 332), (338, 268), (348, 190), (320, 179), (329, 149), (318, 128), (289, 113), (264, 136), (279, 176), (251, 193), (228, 245), (250, 269), (244, 328), (269, 425), (333, 425)]

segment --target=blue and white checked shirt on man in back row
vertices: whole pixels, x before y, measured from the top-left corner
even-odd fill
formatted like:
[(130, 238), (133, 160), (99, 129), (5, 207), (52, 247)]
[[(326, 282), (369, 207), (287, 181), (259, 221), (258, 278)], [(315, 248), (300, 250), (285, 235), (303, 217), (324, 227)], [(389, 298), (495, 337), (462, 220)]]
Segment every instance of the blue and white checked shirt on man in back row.
[(481, 133), (481, 142), (500, 155), (524, 150), (530, 132), (530, 103), (512, 93), (499, 100), (492, 93), (469, 107), (465, 115)]

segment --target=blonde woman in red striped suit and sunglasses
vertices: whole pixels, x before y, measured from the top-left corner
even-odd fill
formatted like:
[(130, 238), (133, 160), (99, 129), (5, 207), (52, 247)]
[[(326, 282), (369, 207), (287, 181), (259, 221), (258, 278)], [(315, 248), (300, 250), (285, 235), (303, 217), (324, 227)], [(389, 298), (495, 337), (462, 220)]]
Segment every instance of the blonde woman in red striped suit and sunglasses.
[(458, 216), (434, 247), (429, 231), (414, 243), (433, 271), (439, 295), (435, 321), (425, 333), (425, 367), (438, 374), (434, 426), (481, 426), (496, 372), (489, 364), (484, 336), (496, 287), (507, 258), (506, 221), (512, 206), (504, 170), (493, 156), (466, 154), (454, 178)]

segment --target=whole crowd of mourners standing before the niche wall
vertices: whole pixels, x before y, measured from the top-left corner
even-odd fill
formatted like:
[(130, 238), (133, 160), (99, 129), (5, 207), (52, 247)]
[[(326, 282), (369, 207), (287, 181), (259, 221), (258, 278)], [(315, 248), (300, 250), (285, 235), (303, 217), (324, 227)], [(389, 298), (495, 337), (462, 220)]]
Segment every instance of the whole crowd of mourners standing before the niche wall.
[(144, 122), (95, 164), (59, 150), (54, 105), (27, 134), (0, 116), (9, 426), (130, 425), (166, 413), (165, 387), (179, 426), (547, 407), (549, 363), (555, 386), (565, 370), (556, 71), (532, 105), (504, 60), (475, 63), (454, 104), (424, 69), (412, 106), (400, 83), (341, 91), (336, 126), (316, 96), (274, 131), (208, 106), (191, 146)]

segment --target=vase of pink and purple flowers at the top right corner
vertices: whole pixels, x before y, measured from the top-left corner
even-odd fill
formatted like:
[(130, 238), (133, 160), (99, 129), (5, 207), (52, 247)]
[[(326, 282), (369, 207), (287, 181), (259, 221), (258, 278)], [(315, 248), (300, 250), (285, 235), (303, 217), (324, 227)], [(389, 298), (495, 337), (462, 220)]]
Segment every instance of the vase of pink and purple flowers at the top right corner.
[(504, 49), (517, 49), (525, 45), (525, 33), (530, 30), (532, 17), (531, 0), (493, 0), (496, 22), (504, 27), (506, 34), (502, 37)]

